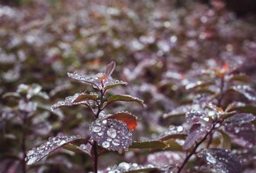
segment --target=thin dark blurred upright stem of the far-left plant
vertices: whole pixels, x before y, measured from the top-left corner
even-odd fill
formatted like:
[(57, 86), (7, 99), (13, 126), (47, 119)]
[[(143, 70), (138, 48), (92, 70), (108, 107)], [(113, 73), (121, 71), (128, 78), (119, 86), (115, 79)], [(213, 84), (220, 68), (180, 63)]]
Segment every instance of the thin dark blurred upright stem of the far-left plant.
[(25, 125), (26, 125), (26, 113), (23, 114), (23, 126), (22, 126), (22, 143), (21, 143), (21, 148), (22, 148), (22, 172), (26, 173), (26, 132), (25, 132)]

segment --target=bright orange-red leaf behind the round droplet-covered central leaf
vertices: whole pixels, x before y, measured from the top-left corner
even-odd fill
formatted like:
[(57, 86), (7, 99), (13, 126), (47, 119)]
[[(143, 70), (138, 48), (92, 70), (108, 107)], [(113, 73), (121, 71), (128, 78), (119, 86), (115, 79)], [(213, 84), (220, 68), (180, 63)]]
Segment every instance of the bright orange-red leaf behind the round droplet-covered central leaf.
[(116, 119), (123, 121), (131, 131), (137, 127), (137, 117), (127, 111), (114, 113), (106, 117), (106, 119)]

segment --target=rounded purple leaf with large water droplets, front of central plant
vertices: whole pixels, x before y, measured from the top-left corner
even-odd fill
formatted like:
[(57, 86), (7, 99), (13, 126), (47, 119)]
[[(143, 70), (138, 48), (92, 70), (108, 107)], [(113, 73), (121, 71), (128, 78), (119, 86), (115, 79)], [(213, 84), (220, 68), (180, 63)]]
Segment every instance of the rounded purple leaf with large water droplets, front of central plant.
[(123, 121), (98, 118), (90, 126), (93, 140), (107, 150), (122, 153), (132, 143), (132, 134)]

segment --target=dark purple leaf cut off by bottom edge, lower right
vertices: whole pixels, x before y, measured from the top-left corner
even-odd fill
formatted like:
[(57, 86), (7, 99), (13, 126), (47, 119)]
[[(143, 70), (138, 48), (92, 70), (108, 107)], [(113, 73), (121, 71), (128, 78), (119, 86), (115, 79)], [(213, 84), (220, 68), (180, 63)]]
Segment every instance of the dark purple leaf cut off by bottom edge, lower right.
[(242, 167), (237, 156), (227, 149), (205, 148), (200, 150), (199, 157), (212, 165), (218, 172), (240, 173)]

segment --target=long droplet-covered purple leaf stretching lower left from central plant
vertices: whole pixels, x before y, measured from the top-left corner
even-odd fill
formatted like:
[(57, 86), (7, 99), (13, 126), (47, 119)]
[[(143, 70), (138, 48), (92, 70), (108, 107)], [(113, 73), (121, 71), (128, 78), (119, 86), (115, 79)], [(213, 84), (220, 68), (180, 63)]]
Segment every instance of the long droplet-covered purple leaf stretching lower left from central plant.
[(53, 150), (78, 139), (82, 138), (80, 136), (65, 135), (58, 135), (54, 138), (49, 138), (49, 140), (47, 142), (44, 142), (41, 146), (32, 148), (32, 150), (29, 150), (29, 152), (26, 153), (26, 164), (31, 165), (33, 163), (36, 163), (43, 157), (47, 156)]

